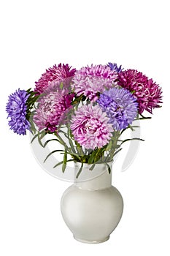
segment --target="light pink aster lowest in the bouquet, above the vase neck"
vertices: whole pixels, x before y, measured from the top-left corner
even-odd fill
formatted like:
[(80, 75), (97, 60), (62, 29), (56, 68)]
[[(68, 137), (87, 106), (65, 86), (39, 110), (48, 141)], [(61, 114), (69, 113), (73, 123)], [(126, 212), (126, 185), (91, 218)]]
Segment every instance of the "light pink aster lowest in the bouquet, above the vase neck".
[(108, 122), (107, 114), (98, 105), (83, 105), (71, 119), (74, 140), (87, 149), (102, 148), (112, 137), (112, 124)]

